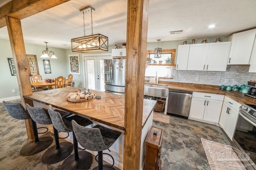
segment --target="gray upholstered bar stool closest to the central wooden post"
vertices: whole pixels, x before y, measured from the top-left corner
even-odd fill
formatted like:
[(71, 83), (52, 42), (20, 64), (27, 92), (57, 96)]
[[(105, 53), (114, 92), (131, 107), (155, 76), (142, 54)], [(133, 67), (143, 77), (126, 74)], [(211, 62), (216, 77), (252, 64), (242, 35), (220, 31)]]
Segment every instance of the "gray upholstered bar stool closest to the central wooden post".
[[(98, 160), (96, 160), (98, 166), (93, 168), (93, 170), (102, 170), (103, 168), (106, 170), (114, 170), (114, 158), (108, 153), (103, 153), (103, 150), (109, 149), (121, 135), (121, 132), (101, 125), (96, 125), (92, 128), (82, 127), (74, 120), (72, 120), (72, 126), (77, 141), (82, 147), (88, 150), (98, 151)], [(103, 154), (111, 156), (113, 160), (112, 166), (103, 165)]]

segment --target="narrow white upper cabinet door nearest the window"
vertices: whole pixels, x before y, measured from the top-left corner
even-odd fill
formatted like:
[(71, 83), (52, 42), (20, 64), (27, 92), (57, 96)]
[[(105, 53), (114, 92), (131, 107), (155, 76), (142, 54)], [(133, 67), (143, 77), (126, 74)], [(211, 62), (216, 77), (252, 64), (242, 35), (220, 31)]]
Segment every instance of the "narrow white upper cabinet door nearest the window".
[(178, 45), (176, 70), (187, 70), (190, 45)]

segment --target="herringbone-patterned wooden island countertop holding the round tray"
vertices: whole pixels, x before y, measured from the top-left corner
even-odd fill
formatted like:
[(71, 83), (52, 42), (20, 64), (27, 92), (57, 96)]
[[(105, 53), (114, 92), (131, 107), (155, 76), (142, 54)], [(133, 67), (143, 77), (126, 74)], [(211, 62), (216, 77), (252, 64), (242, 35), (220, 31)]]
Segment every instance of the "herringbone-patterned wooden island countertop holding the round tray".
[[(96, 96), (101, 96), (101, 99), (94, 99), (88, 102), (68, 102), (66, 96), (68, 96), (70, 92), (78, 91), (78, 89), (79, 88), (67, 87), (45, 90), (34, 92), (24, 96), (24, 98), (46, 105), (51, 104), (58, 109), (66, 110), (125, 131), (124, 96), (90, 90), (90, 92), (94, 92)], [(142, 127), (146, 123), (155, 104), (155, 100), (144, 99)]]

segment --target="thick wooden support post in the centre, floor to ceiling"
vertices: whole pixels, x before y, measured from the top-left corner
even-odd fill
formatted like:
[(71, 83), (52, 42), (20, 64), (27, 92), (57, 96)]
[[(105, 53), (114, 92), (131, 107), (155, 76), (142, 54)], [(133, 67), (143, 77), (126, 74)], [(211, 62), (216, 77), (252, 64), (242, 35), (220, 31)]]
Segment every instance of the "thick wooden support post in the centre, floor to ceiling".
[(128, 0), (124, 170), (140, 169), (149, 0)]

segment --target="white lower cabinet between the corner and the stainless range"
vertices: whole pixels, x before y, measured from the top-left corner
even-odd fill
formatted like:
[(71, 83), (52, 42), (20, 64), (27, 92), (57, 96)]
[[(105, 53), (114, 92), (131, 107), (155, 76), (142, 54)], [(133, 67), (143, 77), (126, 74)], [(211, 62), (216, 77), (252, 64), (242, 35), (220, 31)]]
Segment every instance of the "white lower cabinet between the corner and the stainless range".
[(233, 139), (240, 105), (240, 103), (225, 96), (219, 125), (226, 132), (230, 140)]

